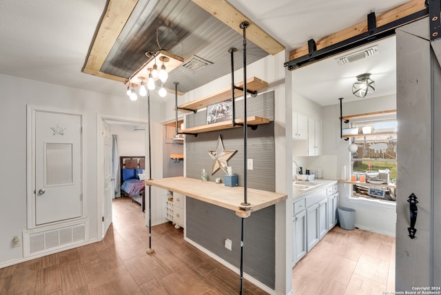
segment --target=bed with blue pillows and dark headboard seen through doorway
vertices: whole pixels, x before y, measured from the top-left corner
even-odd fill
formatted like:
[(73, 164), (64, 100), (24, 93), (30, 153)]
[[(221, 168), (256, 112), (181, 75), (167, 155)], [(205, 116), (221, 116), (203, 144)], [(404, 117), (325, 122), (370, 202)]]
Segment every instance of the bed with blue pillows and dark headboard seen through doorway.
[(121, 196), (129, 196), (132, 202), (141, 204), (145, 211), (145, 158), (144, 156), (120, 156)]

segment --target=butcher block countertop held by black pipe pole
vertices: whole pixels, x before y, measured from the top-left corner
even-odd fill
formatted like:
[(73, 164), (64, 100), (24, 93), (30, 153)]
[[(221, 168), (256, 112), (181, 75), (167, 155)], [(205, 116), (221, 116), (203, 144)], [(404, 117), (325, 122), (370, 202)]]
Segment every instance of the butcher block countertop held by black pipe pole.
[(192, 179), (183, 176), (168, 177), (165, 179), (149, 179), (147, 185), (161, 187), (165, 190), (178, 192), (193, 199), (227, 208), (236, 212), (239, 217), (248, 217), (252, 212), (269, 207), (287, 199), (287, 194), (267, 192), (247, 188), (247, 201), (250, 205), (241, 205), (244, 199), (243, 187), (226, 187), (224, 183), (213, 181), (202, 182), (201, 179)]

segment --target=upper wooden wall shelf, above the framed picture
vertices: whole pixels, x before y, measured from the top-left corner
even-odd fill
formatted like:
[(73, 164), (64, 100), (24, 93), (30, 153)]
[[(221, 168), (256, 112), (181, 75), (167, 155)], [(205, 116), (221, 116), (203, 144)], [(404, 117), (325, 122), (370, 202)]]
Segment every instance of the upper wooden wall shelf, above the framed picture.
[[(243, 88), (243, 81), (235, 84), (236, 87)], [(263, 88), (268, 87), (268, 82), (260, 80), (256, 77), (252, 77), (247, 80), (247, 90), (257, 91)], [(234, 89), (234, 97), (243, 96), (243, 91)], [(232, 99), (232, 88), (225, 88), (219, 92), (214, 94), (210, 94), (209, 96), (205, 96), (201, 99), (195, 99), (194, 101), (189, 101), (188, 103), (184, 103), (183, 105), (179, 105), (178, 109), (182, 112), (192, 112), (192, 110), (198, 110), (201, 108), (205, 108), (208, 105), (213, 105), (214, 103), (220, 103), (221, 101), (227, 101), (228, 99)], [(182, 110), (184, 108), (186, 110)]]

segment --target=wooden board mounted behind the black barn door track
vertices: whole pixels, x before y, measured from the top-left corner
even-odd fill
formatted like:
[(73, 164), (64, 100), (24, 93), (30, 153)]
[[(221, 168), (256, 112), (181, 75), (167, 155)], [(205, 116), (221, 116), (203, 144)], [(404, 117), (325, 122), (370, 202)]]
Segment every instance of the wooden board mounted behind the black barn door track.
[[(426, 6), (424, 6), (424, 0), (410, 1), (402, 6), (399, 6), (398, 8), (394, 8), (393, 10), (389, 10), (388, 12), (384, 12), (383, 14), (377, 16), (376, 27), (378, 28), (380, 26), (384, 26), (387, 23), (402, 19), (403, 17), (407, 17), (424, 9), (426, 9)], [(356, 37), (358, 34), (367, 32), (367, 30), (367, 20), (357, 23), (356, 25), (346, 28), (345, 30), (341, 30), (340, 32), (336, 32), (335, 34), (331, 34), (320, 39), (319, 41), (316, 41), (317, 50), (327, 48), (329, 45), (345, 41), (351, 37)], [(293, 59), (297, 59), (298, 57), (304, 57), (308, 54), (308, 45), (304, 45), (301, 48), (297, 48), (296, 50), (289, 52), (289, 60), (291, 61)]]

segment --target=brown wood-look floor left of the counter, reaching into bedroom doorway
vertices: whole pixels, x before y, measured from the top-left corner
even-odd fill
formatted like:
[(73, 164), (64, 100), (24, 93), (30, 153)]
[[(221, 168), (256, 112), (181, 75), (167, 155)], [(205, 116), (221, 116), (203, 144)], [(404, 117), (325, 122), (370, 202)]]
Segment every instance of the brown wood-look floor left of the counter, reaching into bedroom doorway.
[[(138, 203), (113, 202), (103, 241), (0, 269), (0, 294), (238, 294), (239, 276), (183, 240), (171, 223), (148, 229)], [(266, 294), (244, 281), (244, 294)]]

